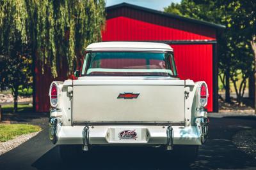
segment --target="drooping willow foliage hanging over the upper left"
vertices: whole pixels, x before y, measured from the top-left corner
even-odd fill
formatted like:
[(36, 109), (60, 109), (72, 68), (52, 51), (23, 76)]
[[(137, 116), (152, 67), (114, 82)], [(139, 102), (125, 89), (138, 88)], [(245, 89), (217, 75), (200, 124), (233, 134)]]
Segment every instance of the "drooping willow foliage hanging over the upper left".
[(9, 52), (17, 38), (54, 77), (65, 61), (72, 71), (83, 48), (101, 39), (104, 6), (104, 0), (1, 1), (0, 49)]

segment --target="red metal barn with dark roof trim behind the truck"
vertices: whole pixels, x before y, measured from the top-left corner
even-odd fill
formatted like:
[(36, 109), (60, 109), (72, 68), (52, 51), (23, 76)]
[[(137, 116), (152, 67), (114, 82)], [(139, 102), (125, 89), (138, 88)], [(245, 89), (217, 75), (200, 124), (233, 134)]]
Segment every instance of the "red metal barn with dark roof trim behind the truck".
[[(102, 41), (154, 41), (171, 45), (179, 77), (204, 80), (209, 87), (209, 111), (218, 111), (217, 33), (225, 28), (192, 18), (180, 17), (122, 3), (106, 8)], [(37, 66), (37, 65), (36, 65)], [(63, 73), (61, 80), (65, 80)], [(50, 74), (35, 67), (34, 104), (36, 111), (49, 110)], [(44, 83), (42, 83), (44, 81)]]

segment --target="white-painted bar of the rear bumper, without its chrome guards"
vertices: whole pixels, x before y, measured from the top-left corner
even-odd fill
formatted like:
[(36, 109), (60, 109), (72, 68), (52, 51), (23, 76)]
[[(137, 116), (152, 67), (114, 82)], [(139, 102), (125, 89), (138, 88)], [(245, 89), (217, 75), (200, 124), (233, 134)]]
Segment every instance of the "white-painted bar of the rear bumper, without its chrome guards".
[[(55, 126), (50, 127), (54, 129)], [(84, 145), (84, 139), (88, 145), (201, 145), (200, 129), (196, 126), (88, 126), (88, 134), (84, 134), (85, 126), (61, 126), (56, 125), (55, 135), (57, 145)], [(111, 137), (111, 131), (116, 128), (140, 128), (144, 129), (145, 138), (141, 141), (115, 141)], [(50, 130), (51, 132), (51, 130)], [(83, 135), (84, 134), (84, 135)], [(84, 136), (84, 139), (83, 139)], [(173, 137), (172, 137), (173, 136)], [(50, 138), (51, 139), (51, 138)], [(54, 139), (54, 138), (53, 138)], [(167, 147), (168, 148), (168, 147)]]

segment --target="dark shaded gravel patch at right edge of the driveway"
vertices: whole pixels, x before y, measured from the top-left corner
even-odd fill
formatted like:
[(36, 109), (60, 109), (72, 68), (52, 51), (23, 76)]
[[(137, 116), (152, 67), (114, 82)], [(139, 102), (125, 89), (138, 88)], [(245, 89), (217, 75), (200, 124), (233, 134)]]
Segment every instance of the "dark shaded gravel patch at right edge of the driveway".
[(232, 142), (237, 148), (256, 159), (256, 129), (238, 131), (232, 137)]

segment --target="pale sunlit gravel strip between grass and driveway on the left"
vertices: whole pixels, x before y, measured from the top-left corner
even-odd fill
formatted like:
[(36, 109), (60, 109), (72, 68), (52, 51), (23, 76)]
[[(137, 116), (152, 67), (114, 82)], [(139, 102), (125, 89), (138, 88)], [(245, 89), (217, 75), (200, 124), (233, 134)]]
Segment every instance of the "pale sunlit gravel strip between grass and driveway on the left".
[[(39, 131), (40, 132), (40, 131)], [(22, 143), (28, 141), (29, 139), (36, 136), (39, 132), (33, 132), (30, 134), (22, 134), (20, 136), (15, 137), (14, 139), (6, 142), (0, 142), (0, 155), (16, 148), (17, 146), (21, 145)]]

